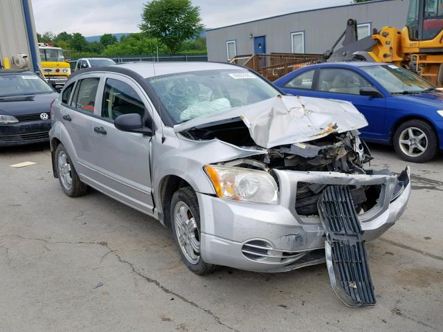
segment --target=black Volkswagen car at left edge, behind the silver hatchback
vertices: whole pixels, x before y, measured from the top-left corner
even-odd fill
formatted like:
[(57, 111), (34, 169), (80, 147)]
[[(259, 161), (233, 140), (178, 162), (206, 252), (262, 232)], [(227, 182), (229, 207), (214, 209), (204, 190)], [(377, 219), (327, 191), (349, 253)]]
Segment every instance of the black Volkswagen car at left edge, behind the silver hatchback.
[(0, 71), (0, 147), (48, 141), (57, 97), (35, 73)]

